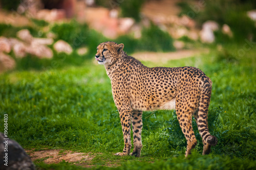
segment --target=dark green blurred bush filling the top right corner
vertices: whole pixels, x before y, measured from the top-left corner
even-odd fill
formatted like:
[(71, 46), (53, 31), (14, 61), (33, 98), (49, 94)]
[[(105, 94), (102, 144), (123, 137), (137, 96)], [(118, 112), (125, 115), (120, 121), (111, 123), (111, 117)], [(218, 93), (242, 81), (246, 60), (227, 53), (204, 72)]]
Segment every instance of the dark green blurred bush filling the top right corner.
[[(256, 27), (255, 23), (247, 16), (246, 12), (256, 8), (256, 1), (252, 0), (216, 0), (216, 1), (206, 1), (204, 3), (205, 7), (199, 7), (199, 3), (195, 2), (191, 4), (189, 1), (183, 1), (178, 3), (178, 6), (182, 8), (180, 15), (188, 15), (191, 12), (190, 17), (195, 19), (198, 27), (207, 20), (214, 20), (219, 23), (222, 27), (227, 24), (231, 31), (233, 32), (233, 38), (227, 38), (217, 31), (216, 42), (225, 43), (225, 41), (230, 42), (236, 41), (241, 42), (244, 39), (256, 40)], [(197, 8), (196, 8), (197, 7)], [(195, 8), (195, 9), (194, 9)]]

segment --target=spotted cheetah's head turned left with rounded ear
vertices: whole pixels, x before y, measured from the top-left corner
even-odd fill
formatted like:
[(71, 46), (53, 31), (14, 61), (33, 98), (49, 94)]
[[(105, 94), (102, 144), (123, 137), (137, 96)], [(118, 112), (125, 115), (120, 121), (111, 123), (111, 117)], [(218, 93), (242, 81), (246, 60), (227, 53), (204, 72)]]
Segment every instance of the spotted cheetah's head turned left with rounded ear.
[(111, 65), (118, 59), (118, 55), (123, 50), (123, 44), (117, 44), (112, 41), (102, 42), (97, 47), (95, 59), (99, 64)]

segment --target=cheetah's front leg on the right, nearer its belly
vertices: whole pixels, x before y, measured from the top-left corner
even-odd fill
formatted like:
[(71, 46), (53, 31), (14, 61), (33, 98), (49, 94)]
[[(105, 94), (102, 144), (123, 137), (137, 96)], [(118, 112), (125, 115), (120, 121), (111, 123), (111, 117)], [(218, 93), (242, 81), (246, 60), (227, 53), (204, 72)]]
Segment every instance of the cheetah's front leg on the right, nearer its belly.
[(140, 152), (142, 149), (142, 142), (141, 142), (142, 111), (137, 111), (137, 110), (133, 111), (132, 124), (133, 124), (133, 145), (134, 145), (132, 156), (140, 157)]

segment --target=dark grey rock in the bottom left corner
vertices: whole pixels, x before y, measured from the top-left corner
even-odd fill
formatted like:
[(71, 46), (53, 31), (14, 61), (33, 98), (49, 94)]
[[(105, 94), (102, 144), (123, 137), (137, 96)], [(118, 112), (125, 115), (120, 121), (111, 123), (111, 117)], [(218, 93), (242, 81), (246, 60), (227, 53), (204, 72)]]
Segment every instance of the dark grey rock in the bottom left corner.
[[(35, 165), (31, 161), (24, 149), (14, 140), (4, 139), (4, 134), (0, 133), (0, 157), (3, 159), (8, 153), (8, 166), (4, 165), (5, 161), (1, 161), (0, 169), (3, 170), (33, 170)], [(5, 152), (6, 141), (8, 142), (8, 152)], [(4, 159), (5, 160), (5, 159)]]

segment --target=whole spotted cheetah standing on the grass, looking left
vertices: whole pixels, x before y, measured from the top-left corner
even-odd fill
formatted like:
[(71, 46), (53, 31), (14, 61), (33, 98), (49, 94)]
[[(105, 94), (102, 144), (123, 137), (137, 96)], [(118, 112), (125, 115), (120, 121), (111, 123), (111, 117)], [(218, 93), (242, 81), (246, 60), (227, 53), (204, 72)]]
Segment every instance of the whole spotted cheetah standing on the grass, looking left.
[[(217, 138), (208, 131), (208, 106), (211, 80), (195, 67), (146, 67), (123, 51), (124, 44), (112, 41), (97, 46), (95, 59), (105, 67), (112, 85), (112, 94), (121, 119), (124, 148), (115, 155), (140, 157), (142, 149), (142, 112), (176, 109), (177, 118), (186, 137), (187, 157), (196, 147), (192, 128), (195, 117), (204, 144), (203, 155), (210, 153)], [(130, 154), (131, 123), (134, 150)]]

